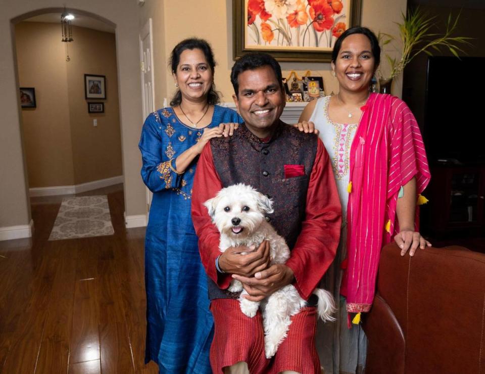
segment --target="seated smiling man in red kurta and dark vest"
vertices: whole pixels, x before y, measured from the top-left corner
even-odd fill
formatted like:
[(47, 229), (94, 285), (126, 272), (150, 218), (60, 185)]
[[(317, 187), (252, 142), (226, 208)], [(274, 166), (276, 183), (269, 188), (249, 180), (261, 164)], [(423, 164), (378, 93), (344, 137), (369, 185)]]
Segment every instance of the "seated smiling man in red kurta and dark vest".
[[(281, 68), (271, 56), (250, 53), (236, 61), (231, 82), (245, 123), (232, 137), (212, 139), (201, 154), (192, 191), (192, 219), (209, 276), (214, 316), (213, 372), (319, 373), (315, 350), (316, 300), (312, 291), (332, 262), (340, 236), (341, 206), (328, 155), (315, 134), (280, 120), (285, 106)], [(253, 186), (273, 200), (266, 219), (291, 250), (286, 264), (268, 267), (269, 244), (235, 247), (221, 254), (219, 232), (203, 205), (236, 183)], [(241, 252), (250, 252), (241, 254)], [(249, 318), (237, 294), (226, 289), (235, 278), (248, 298), (260, 301), (293, 284), (307, 307), (292, 317), (285, 340), (272, 359), (264, 354), (261, 314)], [(243, 371), (237, 371), (240, 369)]]

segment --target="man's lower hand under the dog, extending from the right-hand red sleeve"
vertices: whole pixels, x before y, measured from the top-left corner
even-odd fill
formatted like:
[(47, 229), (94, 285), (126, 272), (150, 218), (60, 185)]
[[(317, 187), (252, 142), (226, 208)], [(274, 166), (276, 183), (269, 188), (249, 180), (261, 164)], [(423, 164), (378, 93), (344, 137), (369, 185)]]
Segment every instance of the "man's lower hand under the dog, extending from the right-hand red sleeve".
[(243, 283), (249, 295), (243, 297), (251, 301), (261, 301), (280, 288), (293, 282), (293, 270), (284, 264), (272, 265), (266, 270), (256, 272), (254, 277), (233, 274), (234, 279)]

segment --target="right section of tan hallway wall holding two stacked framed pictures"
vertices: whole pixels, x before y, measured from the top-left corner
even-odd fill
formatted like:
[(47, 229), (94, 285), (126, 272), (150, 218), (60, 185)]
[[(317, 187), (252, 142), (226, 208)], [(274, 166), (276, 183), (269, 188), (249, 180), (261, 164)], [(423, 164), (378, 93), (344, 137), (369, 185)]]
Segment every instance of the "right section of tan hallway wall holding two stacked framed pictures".
[[(69, 43), (67, 81), (72, 134), (74, 184), (118, 176), (121, 166), (121, 136), (116, 74), (115, 35), (73, 27)], [(85, 99), (84, 74), (106, 76), (105, 113), (89, 114)], [(93, 126), (93, 119), (98, 126)]]

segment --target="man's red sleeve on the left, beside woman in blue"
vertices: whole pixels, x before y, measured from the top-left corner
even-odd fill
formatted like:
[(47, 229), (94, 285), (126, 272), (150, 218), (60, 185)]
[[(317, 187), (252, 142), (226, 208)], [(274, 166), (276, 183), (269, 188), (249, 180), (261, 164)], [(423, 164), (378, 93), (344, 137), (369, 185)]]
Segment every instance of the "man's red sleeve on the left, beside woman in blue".
[(219, 250), (220, 235), (212, 223), (204, 202), (216, 196), (222, 189), (212, 160), (211, 145), (208, 143), (197, 163), (196, 175), (192, 187), (192, 222), (199, 237), (199, 253), (207, 275), (221, 288), (226, 289), (231, 282), (230, 274), (219, 274), (216, 269), (216, 258)]

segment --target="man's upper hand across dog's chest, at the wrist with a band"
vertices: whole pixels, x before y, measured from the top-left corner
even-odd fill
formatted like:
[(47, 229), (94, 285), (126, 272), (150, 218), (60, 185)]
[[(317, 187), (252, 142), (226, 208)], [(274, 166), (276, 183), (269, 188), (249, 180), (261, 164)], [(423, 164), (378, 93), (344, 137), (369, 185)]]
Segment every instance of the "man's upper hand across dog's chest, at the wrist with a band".
[(261, 243), (257, 250), (248, 247), (230, 247), (219, 257), (219, 268), (230, 274), (253, 276), (268, 267), (268, 241)]

